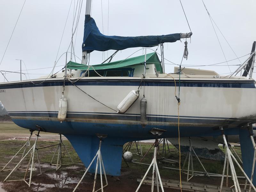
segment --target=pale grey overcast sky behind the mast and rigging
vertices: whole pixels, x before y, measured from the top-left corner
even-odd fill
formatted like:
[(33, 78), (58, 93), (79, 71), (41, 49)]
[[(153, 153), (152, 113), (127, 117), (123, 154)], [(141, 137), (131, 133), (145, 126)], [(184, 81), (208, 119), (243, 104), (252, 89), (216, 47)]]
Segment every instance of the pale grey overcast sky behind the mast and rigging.
[[(67, 51), (71, 40), (74, 1), (75, 4), (77, 3), (77, 0), (72, 1), (58, 58)], [(188, 60), (184, 60), (182, 64), (209, 65), (225, 61), (202, 1), (182, 0), (181, 2), (193, 32), (191, 43), (188, 40)], [(22, 0), (0, 1), (0, 60), (2, 59), (23, 3), (24, 1)], [(36, 74), (29, 75), (30, 78), (43, 76), (41, 74), (49, 74), (52, 70), (50, 67), (54, 65), (57, 55), (70, 3), (71, 0), (27, 0), (5, 53), (4, 60), (0, 65), (0, 70), (17, 71), (20, 69), (20, 63), (15, 59), (22, 59), (27, 69), (46, 68), (29, 70), (28, 72), (23, 71), (24, 73)], [(256, 1), (204, 0), (204, 3), (236, 55), (240, 57), (250, 53), (252, 43), (256, 40)], [(83, 43), (85, 4), (86, 0), (83, 2), (75, 44), (75, 54), (79, 58), (82, 55), (81, 45)], [(103, 26), (101, 1), (92, 0), (91, 15), (95, 19), (101, 33), (104, 31), (105, 35), (143, 36), (189, 32), (179, 0), (102, 0), (102, 10)], [(221, 36), (216, 26), (215, 29), (227, 60), (235, 59), (235, 54)], [(131, 48), (119, 51), (112, 61), (122, 60), (139, 49)], [(156, 47), (152, 49), (156, 50)], [(183, 51), (184, 40), (182, 42), (168, 43), (164, 46), (165, 58), (177, 64), (180, 64)], [(113, 52), (113, 50), (105, 52), (105, 58)], [(148, 50), (147, 52), (152, 51)], [(132, 56), (141, 54), (143, 54), (143, 50), (134, 53)], [(240, 60), (243, 62), (245, 59), (246, 57)], [(94, 51), (91, 53), (90, 64), (99, 64), (102, 60), (104, 60), (102, 52)], [(79, 59), (76, 59), (76, 61), (80, 62)], [(170, 62), (165, 61), (165, 63)], [(239, 65), (240, 62), (239, 60), (234, 60), (228, 62), (228, 64)], [(57, 66), (61, 67), (57, 67), (55, 72), (60, 70), (64, 65), (65, 56), (62, 56), (57, 63)], [(192, 68), (215, 70), (219, 74), (230, 72), (226, 63), (222, 65), (226, 66)], [(173, 72), (173, 67), (173, 65), (166, 64), (166, 72)], [(24, 64), (22, 64), (22, 68), (25, 69)], [(237, 66), (230, 66), (232, 72), (236, 68)], [(19, 74), (7, 74), (6, 77), (10, 81), (19, 80)], [(0, 82), (3, 81), (4, 78), (0, 76)]]

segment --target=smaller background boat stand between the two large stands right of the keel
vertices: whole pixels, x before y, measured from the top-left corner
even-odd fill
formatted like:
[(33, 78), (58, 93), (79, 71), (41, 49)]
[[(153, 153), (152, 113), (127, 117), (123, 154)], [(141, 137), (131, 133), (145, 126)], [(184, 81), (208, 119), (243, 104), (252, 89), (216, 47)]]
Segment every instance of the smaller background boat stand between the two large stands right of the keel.
[[(201, 164), (202, 168), (204, 169), (204, 175), (207, 176), (207, 177), (210, 177), (209, 174), (207, 173), (207, 171), (205, 170), (204, 168), (204, 165), (202, 164), (202, 162), (200, 161), (200, 159), (198, 158), (198, 156), (196, 155), (196, 152), (195, 150), (193, 149), (192, 145), (191, 145), (191, 138), (189, 137), (189, 148), (188, 148), (188, 153), (187, 153), (187, 156), (186, 156), (186, 159), (184, 161), (184, 164), (183, 164), (183, 167), (182, 167), (182, 170), (181, 172), (183, 172), (184, 170), (184, 167), (186, 165), (186, 161), (188, 159), (188, 170), (187, 172), (183, 172), (183, 173), (187, 173), (187, 181), (189, 181), (190, 179), (192, 179), (192, 177), (194, 177), (195, 175), (197, 175), (196, 173), (194, 173), (194, 167), (193, 167), (193, 154), (196, 156), (198, 162)], [(190, 162), (191, 162), (191, 174), (189, 173), (190, 172)], [(189, 175), (191, 175), (191, 177), (189, 177)]]

